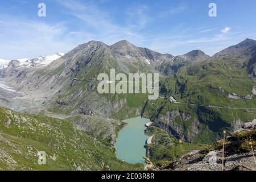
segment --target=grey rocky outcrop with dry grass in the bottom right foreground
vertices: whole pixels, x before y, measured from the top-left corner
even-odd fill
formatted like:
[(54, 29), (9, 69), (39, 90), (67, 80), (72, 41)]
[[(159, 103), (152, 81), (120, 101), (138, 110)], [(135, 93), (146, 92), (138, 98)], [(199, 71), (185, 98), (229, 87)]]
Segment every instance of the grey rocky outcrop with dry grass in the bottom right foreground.
[[(171, 163), (164, 170), (221, 171), (223, 168), (225, 171), (255, 171), (256, 163), (253, 155), (255, 154), (255, 140), (256, 119), (245, 123), (241, 130), (226, 138), (224, 158), (222, 158), (224, 140), (220, 140), (205, 150), (196, 150), (181, 156), (179, 160)], [(222, 165), (222, 159), (224, 159), (224, 165)]]

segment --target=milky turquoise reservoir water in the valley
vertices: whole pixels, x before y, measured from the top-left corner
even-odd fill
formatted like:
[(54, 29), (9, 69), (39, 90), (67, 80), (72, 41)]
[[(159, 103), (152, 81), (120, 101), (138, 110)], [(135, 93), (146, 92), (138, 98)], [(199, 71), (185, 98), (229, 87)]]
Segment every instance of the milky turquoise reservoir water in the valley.
[(144, 145), (148, 138), (144, 130), (146, 130), (145, 124), (150, 122), (150, 119), (137, 117), (123, 122), (126, 122), (127, 126), (118, 133), (115, 144), (118, 158), (131, 164), (144, 163), (143, 157), (146, 156)]

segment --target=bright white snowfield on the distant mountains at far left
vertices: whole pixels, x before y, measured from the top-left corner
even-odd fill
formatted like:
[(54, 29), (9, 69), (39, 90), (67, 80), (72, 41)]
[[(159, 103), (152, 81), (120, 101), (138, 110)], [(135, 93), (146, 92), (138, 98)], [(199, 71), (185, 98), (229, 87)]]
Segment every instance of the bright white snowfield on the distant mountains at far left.
[[(57, 52), (54, 55), (39, 56), (34, 59), (30, 59), (30, 58), (18, 59), (18, 61), (20, 62), (19, 67), (30, 68), (30, 67), (36, 67), (36, 66), (46, 66), (52, 63), (52, 61), (59, 59), (61, 56), (64, 56), (64, 54), (65, 53)], [(0, 59), (0, 69), (6, 68), (9, 62), (10, 60)]]

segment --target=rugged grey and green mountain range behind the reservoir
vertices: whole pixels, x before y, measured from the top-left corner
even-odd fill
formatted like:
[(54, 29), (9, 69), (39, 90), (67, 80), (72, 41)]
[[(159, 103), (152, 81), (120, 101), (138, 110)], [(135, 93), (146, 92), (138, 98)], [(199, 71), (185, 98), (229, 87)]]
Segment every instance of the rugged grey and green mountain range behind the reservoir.
[[(160, 97), (148, 101), (147, 94), (99, 94), (97, 76), (109, 75), (112, 68), (125, 74), (159, 73)], [(150, 118), (153, 124), (147, 132), (159, 138), (146, 147), (159, 163), (178, 156), (167, 155), (171, 149), (164, 141), (169, 137), (183, 140), (188, 148), (201, 147), (220, 139), (223, 130), (232, 134), (243, 123), (253, 121), (255, 80), (256, 41), (251, 39), (212, 57), (200, 50), (172, 56), (136, 47), (126, 40), (112, 46), (90, 41), (64, 55), (40, 56), (25, 62), (11, 60), (0, 69), (0, 81), (7, 82), (19, 95), (15, 100), (13, 96), (0, 99), (6, 107), (26, 102), (26, 106), (15, 107), (24, 114), (67, 115), (76, 129), (85, 128), (88, 135), (95, 130), (102, 133), (95, 126), (101, 122), (113, 135), (103, 140), (101, 135), (92, 137), (105, 145), (111, 140), (110, 146), (117, 134), (112, 126), (121, 125), (115, 120), (138, 115)], [(179, 104), (171, 102), (171, 97)], [(79, 122), (75, 122), (77, 116)], [(94, 121), (96, 117), (100, 119)]]

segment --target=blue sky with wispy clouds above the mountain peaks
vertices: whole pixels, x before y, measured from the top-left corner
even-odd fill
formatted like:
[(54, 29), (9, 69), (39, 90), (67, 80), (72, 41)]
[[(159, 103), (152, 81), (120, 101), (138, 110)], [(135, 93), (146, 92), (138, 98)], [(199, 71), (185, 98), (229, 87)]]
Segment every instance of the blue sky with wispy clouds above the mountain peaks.
[[(46, 3), (46, 17), (38, 4)], [(209, 17), (209, 3), (217, 17)], [(67, 52), (90, 40), (126, 39), (139, 47), (181, 55), (208, 55), (256, 39), (255, 0), (9, 0), (0, 1), (0, 58)]]

